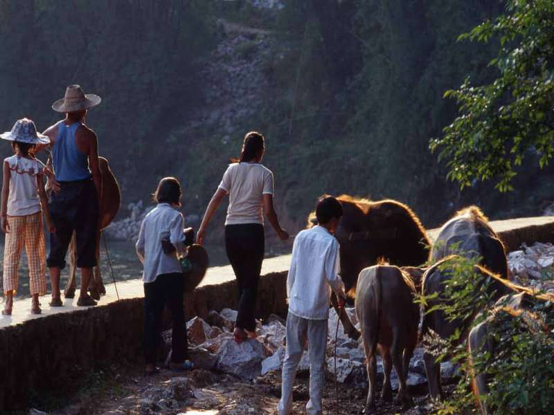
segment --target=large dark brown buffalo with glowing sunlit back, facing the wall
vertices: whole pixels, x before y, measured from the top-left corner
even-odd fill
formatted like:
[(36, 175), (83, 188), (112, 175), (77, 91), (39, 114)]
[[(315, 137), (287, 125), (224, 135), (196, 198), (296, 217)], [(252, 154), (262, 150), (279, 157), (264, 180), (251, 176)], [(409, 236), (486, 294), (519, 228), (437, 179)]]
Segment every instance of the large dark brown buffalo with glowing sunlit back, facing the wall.
[[(429, 246), (418, 216), (397, 201), (368, 201), (343, 194), (337, 199), (343, 206), (343, 216), (335, 237), (341, 244), (341, 278), (346, 291), (356, 286), (360, 271), (384, 259), (396, 266), (420, 266), (427, 261)], [(315, 214), (309, 218), (314, 223)], [(331, 296), (337, 309), (337, 298)], [(338, 313), (338, 312), (337, 312)], [(359, 333), (346, 313), (338, 313), (345, 333), (359, 338)]]

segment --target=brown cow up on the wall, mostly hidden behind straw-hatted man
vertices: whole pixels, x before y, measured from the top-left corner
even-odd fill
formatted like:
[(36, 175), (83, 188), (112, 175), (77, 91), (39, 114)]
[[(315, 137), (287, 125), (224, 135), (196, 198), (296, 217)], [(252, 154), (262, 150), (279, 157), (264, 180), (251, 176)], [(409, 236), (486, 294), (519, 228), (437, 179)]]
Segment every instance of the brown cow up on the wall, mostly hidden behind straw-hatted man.
[[(100, 229), (106, 228), (114, 220), (121, 202), (121, 192), (116, 176), (109, 168), (108, 160), (98, 157), (98, 165), (102, 174), (102, 195), (100, 197)], [(100, 299), (100, 295), (106, 293), (106, 288), (100, 275), (100, 229), (96, 235), (96, 264), (93, 270), (93, 277), (89, 283), (89, 293), (93, 299)], [(64, 290), (64, 297), (75, 297), (75, 261), (77, 249), (75, 232), (69, 244), (69, 279)]]

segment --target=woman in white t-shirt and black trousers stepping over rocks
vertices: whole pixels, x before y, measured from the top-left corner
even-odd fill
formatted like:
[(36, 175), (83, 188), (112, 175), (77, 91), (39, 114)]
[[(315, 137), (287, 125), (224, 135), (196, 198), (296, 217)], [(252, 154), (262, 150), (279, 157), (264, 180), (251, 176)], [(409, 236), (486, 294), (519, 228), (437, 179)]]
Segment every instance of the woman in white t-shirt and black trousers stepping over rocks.
[(263, 212), (279, 239), (285, 241), (289, 237), (280, 227), (275, 212), (273, 173), (260, 164), (264, 154), (264, 136), (256, 132), (247, 133), (238, 163), (229, 165), (224, 173), (197, 234), (198, 243), (204, 243), (208, 223), (224, 196), (229, 194), (225, 247), (238, 285), (239, 306), (234, 331), (238, 342), (256, 337), (254, 314), (265, 251)]

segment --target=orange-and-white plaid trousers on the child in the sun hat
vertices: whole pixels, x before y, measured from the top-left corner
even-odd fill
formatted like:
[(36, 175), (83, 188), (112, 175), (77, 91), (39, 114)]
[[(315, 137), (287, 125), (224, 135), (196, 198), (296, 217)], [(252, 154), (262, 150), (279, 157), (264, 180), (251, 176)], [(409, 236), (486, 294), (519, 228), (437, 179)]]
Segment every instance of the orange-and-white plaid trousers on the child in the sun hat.
[(8, 216), (9, 232), (4, 245), (3, 292), (15, 295), (19, 286), (19, 260), (23, 248), (29, 265), (31, 295), (46, 294), (46, 248), (42, 212), (27, 216)]

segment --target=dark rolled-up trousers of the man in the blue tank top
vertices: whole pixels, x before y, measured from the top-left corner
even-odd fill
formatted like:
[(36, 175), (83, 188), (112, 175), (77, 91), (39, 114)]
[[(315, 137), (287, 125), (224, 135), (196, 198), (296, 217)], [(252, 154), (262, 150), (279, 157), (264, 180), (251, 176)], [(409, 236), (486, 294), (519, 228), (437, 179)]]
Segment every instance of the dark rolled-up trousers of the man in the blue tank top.
[(61, 190), (52, 192), (48, 208), (56, 228), (50, 234), (48, 267), (65, 268), (65, 256), (73, 231), (77, 236), (77, 266), (96, 266), (98, 237), (98, 194), (91, 178), (60, 182)]

